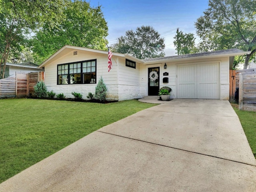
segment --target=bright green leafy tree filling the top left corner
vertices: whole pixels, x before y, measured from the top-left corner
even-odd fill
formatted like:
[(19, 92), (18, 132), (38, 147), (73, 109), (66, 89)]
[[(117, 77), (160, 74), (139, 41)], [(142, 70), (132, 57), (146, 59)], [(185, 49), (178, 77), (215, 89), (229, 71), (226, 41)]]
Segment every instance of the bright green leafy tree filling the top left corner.
[[(28, 34), (44, 22), (58, 26), (68, 0), (0, 0), (0, 78), (12, 50), (21, 50)], [(2, 68), (2, 64), (3, 68)]]

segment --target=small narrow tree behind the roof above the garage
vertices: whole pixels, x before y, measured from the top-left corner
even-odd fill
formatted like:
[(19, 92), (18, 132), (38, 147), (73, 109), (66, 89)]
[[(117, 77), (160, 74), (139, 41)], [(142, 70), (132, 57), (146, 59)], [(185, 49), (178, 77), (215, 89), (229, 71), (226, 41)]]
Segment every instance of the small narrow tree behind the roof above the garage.
[(195, 36), (192, 33), (183, 33), (177, 28), (176, 35), (174, 36), (174, 46), (177, 51), (176, 54), (192, 54), (198, 52), (195, 43)]

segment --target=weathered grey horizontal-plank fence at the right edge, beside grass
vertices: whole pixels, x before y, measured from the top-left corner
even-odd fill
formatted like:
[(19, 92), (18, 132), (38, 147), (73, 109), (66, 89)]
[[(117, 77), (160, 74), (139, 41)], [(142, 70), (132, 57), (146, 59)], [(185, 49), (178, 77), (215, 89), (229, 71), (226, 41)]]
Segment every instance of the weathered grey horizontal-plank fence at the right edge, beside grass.
[(239, 74), (239, 109), (256, 111), (256, 74)]

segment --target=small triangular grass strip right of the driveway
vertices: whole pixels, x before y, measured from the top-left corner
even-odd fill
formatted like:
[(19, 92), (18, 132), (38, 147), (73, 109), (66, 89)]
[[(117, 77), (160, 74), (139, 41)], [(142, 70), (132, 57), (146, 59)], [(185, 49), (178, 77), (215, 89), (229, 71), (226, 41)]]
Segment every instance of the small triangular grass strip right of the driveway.
[(256, 112), (238, 110), (237, 104), (231, 104), (239, 117), (254, 157), (256, 158)]

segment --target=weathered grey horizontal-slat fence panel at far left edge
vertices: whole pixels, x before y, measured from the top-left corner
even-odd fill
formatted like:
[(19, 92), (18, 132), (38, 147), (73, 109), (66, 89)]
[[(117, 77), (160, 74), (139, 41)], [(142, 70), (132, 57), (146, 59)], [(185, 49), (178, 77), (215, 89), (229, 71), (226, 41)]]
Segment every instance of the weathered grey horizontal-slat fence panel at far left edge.
[(0, 98), (16, 96), (16, 78), (0, 79)]

